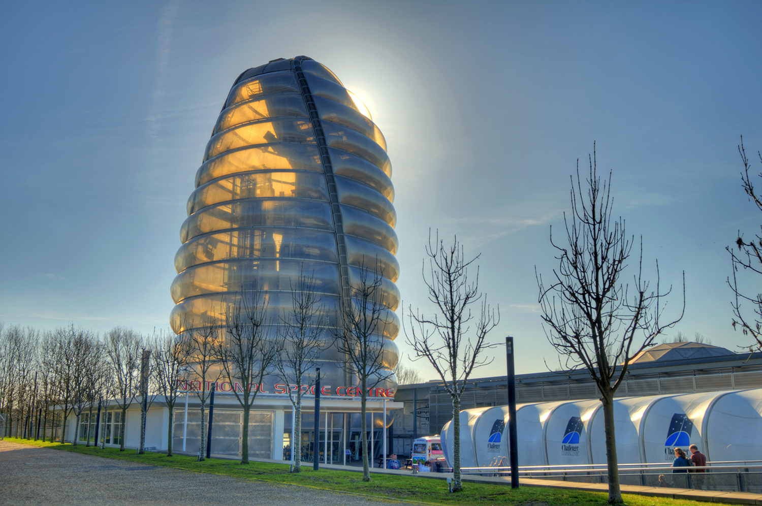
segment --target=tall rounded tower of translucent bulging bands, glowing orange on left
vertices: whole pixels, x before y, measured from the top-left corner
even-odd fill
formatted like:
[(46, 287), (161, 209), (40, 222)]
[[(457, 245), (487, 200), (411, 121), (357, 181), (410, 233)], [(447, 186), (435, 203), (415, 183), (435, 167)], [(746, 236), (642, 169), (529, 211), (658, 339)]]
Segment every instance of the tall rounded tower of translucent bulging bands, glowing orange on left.
[[(300, 270), (313, 274), (330, 311), (326, 340), (341, 328), (362, 268), (382, 277), (384, 366), (398, 360), (399, 264), (392, 166), (370, 111), (325, 66), (298, 56), (248, 69), (214, 125), (174, 258), (171, 326), (181, 334), (226, 315), (264, 290), (277, 325), (292, 307)], [(370, 274), (371, 278), (373, 274)], [(273, 332), (276, 330), (271, 329)], [(334, 349), (322, 362), (341, 362)], [(353, 384), (341, 367), (327, 383)], [(395, 386), (392, 375), (386, 387)], [(379, 385), (382, 386), (382, 385)]]

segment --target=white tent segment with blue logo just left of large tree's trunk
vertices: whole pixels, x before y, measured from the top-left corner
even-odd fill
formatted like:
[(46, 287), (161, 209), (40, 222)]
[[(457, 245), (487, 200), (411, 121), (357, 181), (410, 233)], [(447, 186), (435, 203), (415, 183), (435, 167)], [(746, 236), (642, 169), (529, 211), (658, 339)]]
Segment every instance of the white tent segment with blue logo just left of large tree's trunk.
[(549, 466), (589, 464), (587, 424), (600, 401), (565, 402), (555, 408), (545, 424)]

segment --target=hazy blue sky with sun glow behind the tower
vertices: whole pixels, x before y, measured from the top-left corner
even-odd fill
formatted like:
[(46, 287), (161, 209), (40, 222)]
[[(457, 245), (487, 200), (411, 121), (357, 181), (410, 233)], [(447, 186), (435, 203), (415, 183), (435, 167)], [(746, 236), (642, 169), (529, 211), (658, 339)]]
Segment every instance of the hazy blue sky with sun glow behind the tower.
[[(404, 305), (428, 230), (482, 254), (495, 341), (556, 363), (534, 268), (597, 143), (645, 270), (686, 277), (677, 331), (731, 349), (730, 260), (760, 216), (760, 2), (15, 2), (0, 17), (0, 319), (166, 328), (185, 202), (243, 70), (307, 55), (366, 102), (396, 188)], [(755, 165), (755, 173), (760, 167)], [(757, 229), (758, 230), (758, 229)], [(751, 280), (758, 290), (759, 280)], [(679, 291), (679, 290), (678, 290)], [(679, 294), (665, 314), (679, 310)], [(404, 336), (398, 343), (407, 353)], [(502, 351), (479, 376), (504, 372)], [(421, 364), (424, 376), (431, 370)]]

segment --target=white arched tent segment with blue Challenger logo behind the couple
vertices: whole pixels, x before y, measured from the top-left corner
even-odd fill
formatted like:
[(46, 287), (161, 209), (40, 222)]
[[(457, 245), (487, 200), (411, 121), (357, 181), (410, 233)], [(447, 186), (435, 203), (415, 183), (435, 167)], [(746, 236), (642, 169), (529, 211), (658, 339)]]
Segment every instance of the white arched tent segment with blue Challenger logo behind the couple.
[(691, 444), (703, 447), (704, 415), (723, 393), (692, 393), (654, 402), (645, 413), (641, 434), (645, 463), (671, 463), (676, 447), (686, 453)]

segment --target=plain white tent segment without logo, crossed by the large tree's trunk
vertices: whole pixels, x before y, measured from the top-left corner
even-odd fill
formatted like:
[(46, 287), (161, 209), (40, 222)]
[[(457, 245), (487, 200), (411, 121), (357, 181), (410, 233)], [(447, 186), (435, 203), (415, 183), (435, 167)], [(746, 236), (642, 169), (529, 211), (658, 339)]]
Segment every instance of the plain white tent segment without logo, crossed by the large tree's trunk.
[[(621, 463), (640, 462), (640, 420), (648, 405), (656, 399), (616, 399), (614, 401), (614, 434), (616, 438), (616, 460)], [(604, 406), (593, 415), (588, 425), (590, 441), (590, 463), (606, 463), (606, 427), (604, 424)]]

